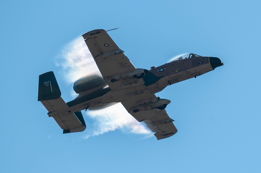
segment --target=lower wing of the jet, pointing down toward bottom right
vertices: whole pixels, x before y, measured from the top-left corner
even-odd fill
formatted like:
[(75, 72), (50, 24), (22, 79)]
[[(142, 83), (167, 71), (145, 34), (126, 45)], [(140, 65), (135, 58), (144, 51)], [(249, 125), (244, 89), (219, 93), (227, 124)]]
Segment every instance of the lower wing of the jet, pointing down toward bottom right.
[(143, 121), (152, 132), (155, 132), (154, 135), (159, 140), (174, 135), (177, 128), (165, 109), (159, 110), (153, 107), (153, 102), (157, 100), (155, 94), (143, 93), (121, 103), (135, 119), (139, 122)]

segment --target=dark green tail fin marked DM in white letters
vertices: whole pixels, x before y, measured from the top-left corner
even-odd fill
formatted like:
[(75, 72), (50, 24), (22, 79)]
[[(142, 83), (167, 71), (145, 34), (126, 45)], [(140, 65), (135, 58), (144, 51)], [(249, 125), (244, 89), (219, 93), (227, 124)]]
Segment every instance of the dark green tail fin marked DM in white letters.
[(38, 101), (53, 100), (61, 97), (54, 72), (47, 72), (39, 76)]

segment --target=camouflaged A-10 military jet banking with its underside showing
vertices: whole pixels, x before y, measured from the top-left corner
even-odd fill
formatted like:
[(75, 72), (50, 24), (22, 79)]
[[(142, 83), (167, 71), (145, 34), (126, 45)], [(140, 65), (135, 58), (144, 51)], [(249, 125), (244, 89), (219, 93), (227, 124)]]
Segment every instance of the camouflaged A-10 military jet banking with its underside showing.
[(170, 100), (161, 99), (155, 93), (224, 65), (217, 57), (191, 53), (150, 70), (135, 68), (105, 30), (92, 30), (82, 36), (102, 77), (93, 73), (78, 79), (73, 89), (79, 95), (66, 103), (54, 72), (39, 76), (38, 101), (63, 133), (86, 129), (82, 110), (99, 110), (121, 102), (135, 119), (155, 132), (158, 140), (168, 138), (177, 132), (174, 120), (165, 110)]

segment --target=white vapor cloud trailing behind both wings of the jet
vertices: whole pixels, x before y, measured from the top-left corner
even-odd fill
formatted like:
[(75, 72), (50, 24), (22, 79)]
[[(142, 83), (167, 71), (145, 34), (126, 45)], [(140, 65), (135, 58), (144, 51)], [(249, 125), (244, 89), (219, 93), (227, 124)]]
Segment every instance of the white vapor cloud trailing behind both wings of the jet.
[[(99, 69), (82, 37), (75, 39), (64, 47), (61, 55), (59, 55), (59, 63), (56, 63), (56, 65), (62, 67), (65, 78), (70, 83), (95, 71), (99, 73)], [(86, 116), (91, 118), (93, 123), (88, 125), (88, 122), (86, 122), (87, 129), (85, 131), (88, 134), (85, 138), (116, 129), (121, 129), (126, 133), (143, 134), (146, 137), (152, 134), (143, 123), (139, 123), (134, 119), (121, 103), (98, 111), (88, 110)]]

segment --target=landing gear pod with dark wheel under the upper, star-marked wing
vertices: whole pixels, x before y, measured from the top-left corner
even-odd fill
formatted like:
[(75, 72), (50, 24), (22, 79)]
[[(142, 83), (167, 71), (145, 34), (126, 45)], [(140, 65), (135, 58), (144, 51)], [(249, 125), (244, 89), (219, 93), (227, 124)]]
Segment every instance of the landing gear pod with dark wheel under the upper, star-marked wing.
[(141, 79), (145, 74), (147, 74), (149, 71), (143, 68), (137, 68), (135, 71), (133, 72), (129, 72), (129, 73), (125, 73), (125, 74), (119, 74), (119, 75), (115, 75), (112, 76), (109, 81), (111, 82), (116, 82), (119, 80), (126, 80), (126, 79), (133, 79), (133, 78), (137, 78), (137, 79)]

